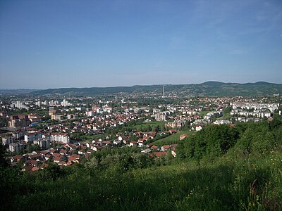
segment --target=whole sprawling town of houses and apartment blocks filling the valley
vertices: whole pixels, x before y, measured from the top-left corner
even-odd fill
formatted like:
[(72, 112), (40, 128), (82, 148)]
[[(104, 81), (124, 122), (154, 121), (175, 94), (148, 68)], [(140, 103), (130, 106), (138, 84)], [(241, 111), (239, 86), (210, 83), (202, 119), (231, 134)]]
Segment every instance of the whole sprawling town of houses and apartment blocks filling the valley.
[[(177, 98), (175, 94), (147, 95), (152, 105), (142, 105), (139, 95), (114, 99), (38, 98), (34, 101), (1, 101), (4, 131), (2, 144), (11, 165), (38, 171), (54, 162), (75, 165), (104, 148), (137, 148), (160, 157), (177, 156), (177, 143), (201, 131), (207, 124), (259, 122), (281, 115), (273, 99), (243, 97)], [(118, 99), (120, 98), (120, 99)], [(17, 113), (19, 112), (19, 113)], [(170, 136), (170, 144), (161, 144)], [(159, 140), (159, 141), (158, 141)]]

